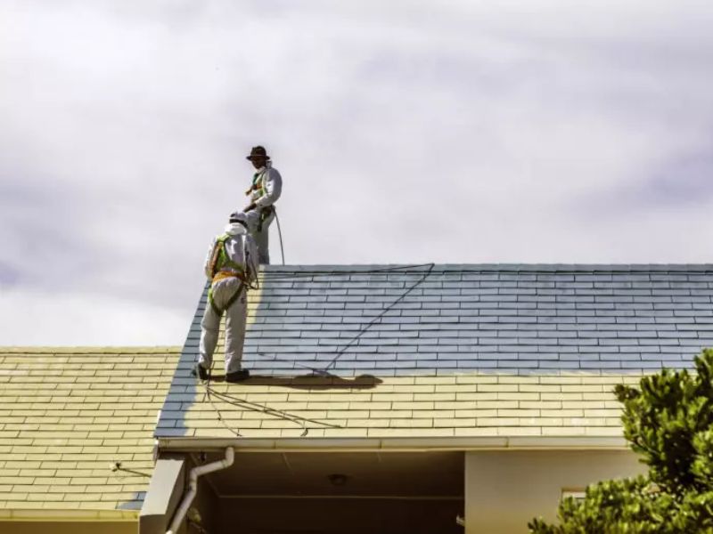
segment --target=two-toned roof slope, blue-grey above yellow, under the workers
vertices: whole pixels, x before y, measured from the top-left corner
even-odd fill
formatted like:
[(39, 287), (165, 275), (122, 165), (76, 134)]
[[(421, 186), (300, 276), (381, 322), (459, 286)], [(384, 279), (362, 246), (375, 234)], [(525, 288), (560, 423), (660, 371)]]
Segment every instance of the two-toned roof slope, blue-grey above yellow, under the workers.
[(713, 346), (712, 295), (713, 265), (267, 266), (257, 377), (189, 376), (204, 293), (157, 435), (619, 435), (613, 385)]

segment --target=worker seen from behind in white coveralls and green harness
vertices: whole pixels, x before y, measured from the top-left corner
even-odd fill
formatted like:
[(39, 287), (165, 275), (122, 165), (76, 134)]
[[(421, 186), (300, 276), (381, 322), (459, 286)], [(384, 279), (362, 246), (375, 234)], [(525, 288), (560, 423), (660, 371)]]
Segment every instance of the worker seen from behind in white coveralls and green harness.
[(250, 377), (243, 369), (246, 294), (258, 279), (258, 250), (248, 233), (246, 214), (232, 214), (225, 233), (213, 239), (206, 256), (205, 272), (210, 280), (208, 303), (201, 321), (201, 356), (193, 370), (201, 380), (209, 378), (216, 350), (220, 319), (225, 313), (225, 381)]

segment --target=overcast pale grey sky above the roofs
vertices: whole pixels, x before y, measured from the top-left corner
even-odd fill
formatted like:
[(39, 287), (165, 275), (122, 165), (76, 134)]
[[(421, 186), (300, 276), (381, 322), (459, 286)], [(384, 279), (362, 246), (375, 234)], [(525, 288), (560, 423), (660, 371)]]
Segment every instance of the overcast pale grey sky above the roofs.
[(708, 263), (711, 28), (709, 0), (2, 0), (0, 344), (183, 344), (258, 143), (288, 263)]

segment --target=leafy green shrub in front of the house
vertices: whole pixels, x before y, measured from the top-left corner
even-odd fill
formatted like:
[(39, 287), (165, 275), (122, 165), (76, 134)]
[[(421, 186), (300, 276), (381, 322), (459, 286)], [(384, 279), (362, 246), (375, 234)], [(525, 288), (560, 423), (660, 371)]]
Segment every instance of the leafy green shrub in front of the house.
[(529, 522), (533, 534), (713, 533), (713, 350), (696, 373), (662, 370), (639, 388), (618, 385), (631, 449), (649, 466), (632, 479), (598, 482), (565, 498), (559, 524)]

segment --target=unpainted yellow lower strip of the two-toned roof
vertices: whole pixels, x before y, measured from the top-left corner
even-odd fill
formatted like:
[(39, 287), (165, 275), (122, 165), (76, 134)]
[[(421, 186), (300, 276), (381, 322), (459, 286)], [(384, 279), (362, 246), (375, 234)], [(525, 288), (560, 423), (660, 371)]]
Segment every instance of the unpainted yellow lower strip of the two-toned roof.
[[(217, 362), (217, 367), (220, 362)], [(159, 433), (186, 438), (621, 436), (616, 384), (637, 375), (250, 379), (197, 384)], [(193, 398), (189, 400), (189, 396)], [(167, 433), (167, 428), (174, 430)]]

